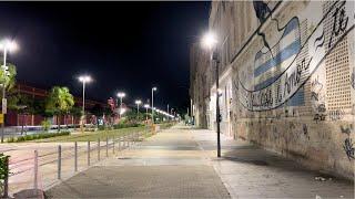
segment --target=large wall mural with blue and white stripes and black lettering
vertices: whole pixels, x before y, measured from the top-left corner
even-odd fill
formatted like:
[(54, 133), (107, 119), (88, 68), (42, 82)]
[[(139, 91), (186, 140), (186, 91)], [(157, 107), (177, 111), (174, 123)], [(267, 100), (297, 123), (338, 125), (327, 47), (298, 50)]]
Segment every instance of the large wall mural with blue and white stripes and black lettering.
[[(272, 41), (262, 36), (263, 46), (255, 52), (254, 66), (251, 67), (253, 71), (250, 73), (247, 69), (242, 70), (237, 74), (239, 85), (234, 86), (239, 88), (239, 101), (245, 108), (260, 112), (274, 109), (284, 104), (287, 106), (304, 105), (304, 84), (355, 27), (354, 1), (332, 3), (332, 7), (325, 12), (317, 13), (310, 9), (300, 13), (291, 18), (282, 28), (278, 27), (277, 20), (273, 19), (277, 28), (272, 34), (276, 39)], [(267, 4), (262, 2), (254, 2), (254, 10), (261, 23), (267, 15), (272, 15)], [(308, 23), (315, 25), (310, 33), (302, 35), (300, 19), (305, 19), (305, 15), (313, 15), (307, 20)], [(324, 21), (332, 21), (328, 40), (324, 39)], [(305, 40), (301, 42), (301, 38)], [(247, 85), (245, 81), (248, 77), (254, 80), (251, 85)], [(320, 88), (320, 85), (315, 87)], [(313, 98), (320, 100), (320, 96), (314, 93)], [(317, 107), (321, 112), (326, 109), (322, 104)]]

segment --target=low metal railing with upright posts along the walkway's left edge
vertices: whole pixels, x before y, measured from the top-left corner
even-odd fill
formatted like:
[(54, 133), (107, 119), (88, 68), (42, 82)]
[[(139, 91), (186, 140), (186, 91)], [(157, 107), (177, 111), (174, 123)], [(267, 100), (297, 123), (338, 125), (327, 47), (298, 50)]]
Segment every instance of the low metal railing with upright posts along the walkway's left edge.
[[(108, 158), (110, 154), (115, 155), (124, 149), (133, 148), (141, 140), (141, 137), (145, 137), (145, 134), (152, 133), (144, 130), (118, 137), (105, 137), (104, 140), (73, 142), (71, 146), (63, 143), (57, 147), (53, 146), (45, 154), (34, 150), (27, 158), (17, 159), (11, 157), (9, 161), (9, 192), (13, 193), (29, 188), (38, 190), (39, 188), (50, 187), (63, 179), (64, 174), (65, 177), (71, 177), (103, 160), (102, 150), (104, 150), (105, 158)], [(97, 150), (95, 159), (92, 157), (94, 150)], [(55, 178), (53, 177), (54, 171), (57, 172)], [(40, 176), (41, 172), (43, 174), (42, 178)], [(41, 181), (40, 179), (43, 180)], [(47, 186), (40, 186), (40, 181)]]

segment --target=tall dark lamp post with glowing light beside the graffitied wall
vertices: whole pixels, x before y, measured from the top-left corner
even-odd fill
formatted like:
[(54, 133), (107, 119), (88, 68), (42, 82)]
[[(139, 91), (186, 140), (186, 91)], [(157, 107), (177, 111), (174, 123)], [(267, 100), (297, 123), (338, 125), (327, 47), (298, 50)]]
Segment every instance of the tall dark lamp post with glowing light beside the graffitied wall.
[(215, 91), (216, 91), (216, 101), (215, 101), (215, 119), (217, 125), (217, 157), (221, 157), (221, 128), (220, 128), (220, 80), (219, 80), (219, 67), (220, 67), (220, 57), (217, 52), (217, 40), (214, 33), (209, 32), (202, 38), (202, 45), (210, 51), (212, 51), (212, 60), (215, 61)]

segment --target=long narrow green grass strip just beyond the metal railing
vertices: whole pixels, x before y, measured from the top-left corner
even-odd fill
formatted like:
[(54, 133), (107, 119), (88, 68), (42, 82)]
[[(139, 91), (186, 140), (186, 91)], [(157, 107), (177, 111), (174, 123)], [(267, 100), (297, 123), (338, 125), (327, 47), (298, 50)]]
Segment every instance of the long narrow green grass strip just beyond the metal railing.
[(128, 134), (144, 132), (149, 133), (150, 128), (145, 126), (141, 127), (130, 127), (130, 128), (120, 128), (120, 129), (111, 129), (111, 130), (98, 130), (98, 132), (84, 132), (84, 133), (75, 133), (69, 136), (61, 137), (51, 137), (48, 139), (37, 140), (38, 143), (67, 143), (67, 142), (95, 142), (99, 138), (101, 140), (105, 140), (105, 138), (120, 137)]

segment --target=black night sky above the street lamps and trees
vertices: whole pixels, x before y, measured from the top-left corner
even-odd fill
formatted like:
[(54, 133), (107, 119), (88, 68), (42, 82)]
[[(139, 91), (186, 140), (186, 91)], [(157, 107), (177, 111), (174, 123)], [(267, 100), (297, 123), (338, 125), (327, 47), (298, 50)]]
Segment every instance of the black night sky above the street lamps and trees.
[(18, 80), (68, 86), (93, 76), (88, 98), (105, 102), (119, 90), (126, 102), (159, 87), (160, 106), (189, 98), (189, 46), (207, 28), (210, 2), (0, 2), (0, 36), (20, 49), (9, 55)]

